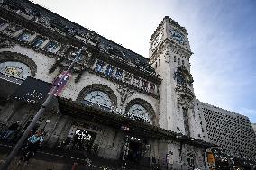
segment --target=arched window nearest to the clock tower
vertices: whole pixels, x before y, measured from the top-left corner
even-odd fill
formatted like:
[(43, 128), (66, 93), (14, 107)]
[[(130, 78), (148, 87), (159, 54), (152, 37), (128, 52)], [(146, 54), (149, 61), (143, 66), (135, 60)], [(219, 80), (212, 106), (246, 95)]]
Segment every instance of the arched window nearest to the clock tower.
[(149, 112), (141, 104), (133, 104), (128, 110), (128, 115), (132, 119), (151, 123)]

